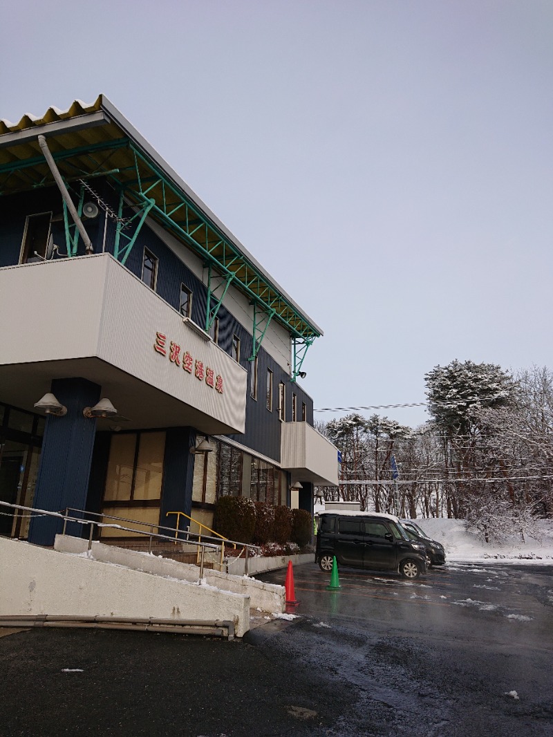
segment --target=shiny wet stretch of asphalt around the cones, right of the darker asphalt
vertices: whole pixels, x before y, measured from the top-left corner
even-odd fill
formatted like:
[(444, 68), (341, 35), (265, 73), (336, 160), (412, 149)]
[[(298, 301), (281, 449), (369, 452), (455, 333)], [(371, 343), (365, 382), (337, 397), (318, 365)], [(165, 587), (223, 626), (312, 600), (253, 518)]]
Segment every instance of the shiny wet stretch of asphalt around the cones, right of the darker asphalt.
[(296, 570), (302, 617), (280, 640), (358, 695), (330, 734), (553, 735), (553, 567), (450, 564), (418, 581), (342, 569), (339, 591), (328, 582)]

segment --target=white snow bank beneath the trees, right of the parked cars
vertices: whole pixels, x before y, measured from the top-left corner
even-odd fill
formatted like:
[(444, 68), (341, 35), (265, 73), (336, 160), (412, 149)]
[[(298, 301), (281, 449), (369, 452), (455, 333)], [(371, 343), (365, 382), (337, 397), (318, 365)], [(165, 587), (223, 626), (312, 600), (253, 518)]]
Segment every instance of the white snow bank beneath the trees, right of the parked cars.
[(534, 536), (526, 536), (524, 542), (520, 535), (513, 535), (488, 544), (467, 529), (465, 520), (431, 517), (416, 521), (428, 537), (442, 543), (446, 562), (489, 562), (490, 559), (548, 565), (553, 562), (553, 520), (535, 520)]

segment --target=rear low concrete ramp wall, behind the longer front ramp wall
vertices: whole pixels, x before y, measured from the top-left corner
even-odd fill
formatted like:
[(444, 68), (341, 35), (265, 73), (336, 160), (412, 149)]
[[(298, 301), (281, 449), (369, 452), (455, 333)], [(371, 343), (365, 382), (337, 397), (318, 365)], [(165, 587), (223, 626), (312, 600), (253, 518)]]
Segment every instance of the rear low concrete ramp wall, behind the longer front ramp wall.
[[(55, 550), (65, 553), (83, 553), (88, 549), (88, 540), (69, 535), (56, 535)], [(170, 576), (172, 579), (198, 582), (200, 569), (197, 565), (180, 563), (170, 558), (161, 558), (148, 553), (139, 553), (115, 545), (102, 545), (93, 542), (91, 555), (95, 560), (124, 565), (133, 570), (155, 573), (157, 576)], [(254, 559), (256, 560), (256, 559)], [(253, 562), (250, 560), (250, 562)], [(248, 566), (250, 567), (250, 566)], [(267, 569), (268, 570), (268, 569)], [(250, 607), (263, 612), (284, 612), (285, 590), (282, 586), (265, 584), (262, 581), (246, 578), (243, 575), (230, 576), (218, 570), (204, 568), (204, 581), (221, 591), (230, 591), (250, 598)]]

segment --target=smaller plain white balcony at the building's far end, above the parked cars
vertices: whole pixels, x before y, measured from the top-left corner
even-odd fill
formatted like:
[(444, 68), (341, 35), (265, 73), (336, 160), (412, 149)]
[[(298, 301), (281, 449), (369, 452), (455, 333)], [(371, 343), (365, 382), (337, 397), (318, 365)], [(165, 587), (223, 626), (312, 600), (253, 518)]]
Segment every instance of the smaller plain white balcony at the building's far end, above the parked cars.
[(283, 422), (280, 465), (293, 481), (338, 486), (338, 449), (307, 422)]

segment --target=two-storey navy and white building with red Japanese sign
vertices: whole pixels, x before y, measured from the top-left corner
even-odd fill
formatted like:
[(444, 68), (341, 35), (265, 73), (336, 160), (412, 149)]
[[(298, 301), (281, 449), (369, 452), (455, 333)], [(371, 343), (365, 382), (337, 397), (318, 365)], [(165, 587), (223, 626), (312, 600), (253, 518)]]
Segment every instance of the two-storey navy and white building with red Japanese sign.
[(321, 329), (114, 105), (1, 121), (0, 195), (0, 500), (172, 527), (225, 494), (313, 511), (338, 483), (296, 381)]

